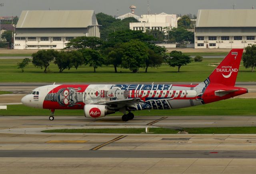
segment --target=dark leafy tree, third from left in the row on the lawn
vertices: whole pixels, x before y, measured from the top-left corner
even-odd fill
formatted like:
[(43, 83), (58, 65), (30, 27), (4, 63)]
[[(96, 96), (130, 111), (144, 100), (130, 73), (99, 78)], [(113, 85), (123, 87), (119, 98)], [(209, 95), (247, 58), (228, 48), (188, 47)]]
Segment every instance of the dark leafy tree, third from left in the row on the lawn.
[(70, 70), (70, 68), (72, 67), (72, 63), (71, 63), (71, 58), (70, 58), (71, 53), (66, 52), (66, 51), (60, 51), (56, 54), (56, 57), (54, 59), (54, 63), (58, 66), (58, 68), (60, 69), (60, 73), (64, 70), (64, 69), (68, 69)]

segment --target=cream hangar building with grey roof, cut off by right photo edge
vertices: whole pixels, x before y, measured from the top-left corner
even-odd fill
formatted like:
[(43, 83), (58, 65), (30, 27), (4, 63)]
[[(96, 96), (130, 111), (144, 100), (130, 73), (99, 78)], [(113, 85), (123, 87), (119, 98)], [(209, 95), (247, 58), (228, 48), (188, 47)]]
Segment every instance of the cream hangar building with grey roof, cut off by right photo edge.
[(256, 44), (256, 10), (198, 10), (195, 48), (244, 48)]

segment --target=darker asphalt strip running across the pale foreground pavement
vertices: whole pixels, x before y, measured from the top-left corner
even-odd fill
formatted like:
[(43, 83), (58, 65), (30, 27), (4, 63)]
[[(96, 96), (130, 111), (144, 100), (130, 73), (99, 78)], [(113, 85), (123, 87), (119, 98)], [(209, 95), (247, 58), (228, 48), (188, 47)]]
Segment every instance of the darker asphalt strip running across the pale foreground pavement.
[(256, 158), (255, 150), (0, 150), (0, 158)]

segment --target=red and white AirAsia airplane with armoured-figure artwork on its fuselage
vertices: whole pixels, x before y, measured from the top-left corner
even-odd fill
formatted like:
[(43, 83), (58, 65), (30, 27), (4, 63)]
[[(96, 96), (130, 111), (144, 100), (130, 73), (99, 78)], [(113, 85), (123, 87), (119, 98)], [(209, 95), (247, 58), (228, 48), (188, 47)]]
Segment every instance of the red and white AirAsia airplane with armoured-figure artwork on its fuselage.
[(203, 82), (177, 84), (87, 84), (46, 85), (22, 98), (29, 107), (51, 110), (83, 109), (84, 116), (100, 118), (120, 111), (122, 121), (134, 118), (132, 111), (145, 109), (176, 109), (204, 105), (248, 93), (235, 87), (243, 49), (232, 49)]

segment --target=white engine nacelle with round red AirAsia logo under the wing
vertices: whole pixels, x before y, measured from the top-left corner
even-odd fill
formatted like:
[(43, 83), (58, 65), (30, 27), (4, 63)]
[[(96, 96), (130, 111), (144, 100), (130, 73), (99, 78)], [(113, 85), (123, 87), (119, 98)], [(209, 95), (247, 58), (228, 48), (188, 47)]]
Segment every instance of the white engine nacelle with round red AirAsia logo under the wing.
[(87, 118), (100, 118), (115, 113), (106, 105), (84, 105), (84, 116)]

